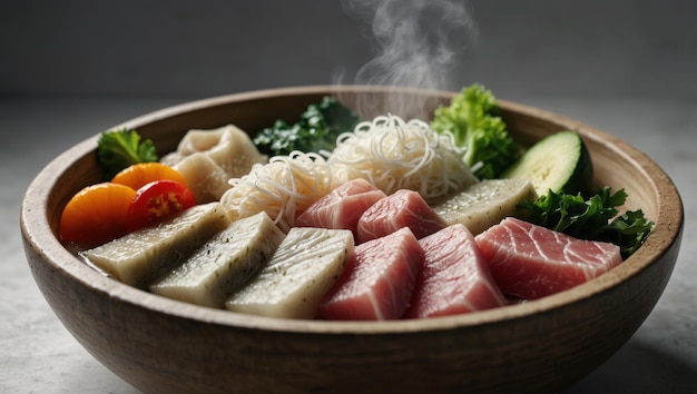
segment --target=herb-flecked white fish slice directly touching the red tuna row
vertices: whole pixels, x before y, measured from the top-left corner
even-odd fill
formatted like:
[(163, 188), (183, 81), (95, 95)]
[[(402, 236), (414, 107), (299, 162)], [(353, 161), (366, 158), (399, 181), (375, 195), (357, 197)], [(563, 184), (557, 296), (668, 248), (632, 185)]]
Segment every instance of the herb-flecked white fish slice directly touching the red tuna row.
[(347, 229), (294, 227), (261, 270), (225, 307), (285, 318), (313, 318), (354, 252)]

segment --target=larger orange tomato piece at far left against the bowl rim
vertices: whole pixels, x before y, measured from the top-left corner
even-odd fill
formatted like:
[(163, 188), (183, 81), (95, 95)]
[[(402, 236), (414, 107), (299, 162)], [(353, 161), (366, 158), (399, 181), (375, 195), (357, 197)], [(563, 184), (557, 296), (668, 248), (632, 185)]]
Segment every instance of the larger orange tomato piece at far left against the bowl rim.
[(128, 233), (128, 210), (136, 190), (104, 183), (88, 186), (68, 201), (60, 216), (60, 239), (92, 247)]

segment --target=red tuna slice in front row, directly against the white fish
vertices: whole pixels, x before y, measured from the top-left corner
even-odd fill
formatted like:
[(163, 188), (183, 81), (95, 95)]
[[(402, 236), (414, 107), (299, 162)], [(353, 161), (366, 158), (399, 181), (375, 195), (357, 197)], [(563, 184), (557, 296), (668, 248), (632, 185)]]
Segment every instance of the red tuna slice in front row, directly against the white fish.
[(401, 318), (422, 260), (423, 249), (406, 227), (357, 245), (344, 274), (320, 303), (320, 316), (342, 321)]

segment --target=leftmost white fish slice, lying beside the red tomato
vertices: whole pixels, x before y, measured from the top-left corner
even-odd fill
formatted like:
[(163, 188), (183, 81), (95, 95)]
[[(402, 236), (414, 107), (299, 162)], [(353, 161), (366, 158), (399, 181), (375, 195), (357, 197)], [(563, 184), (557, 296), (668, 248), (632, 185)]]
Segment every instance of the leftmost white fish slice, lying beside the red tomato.
[(80, 255), (116, 279), (146, 288), (228, 225), (219, 203), (197, 205)]

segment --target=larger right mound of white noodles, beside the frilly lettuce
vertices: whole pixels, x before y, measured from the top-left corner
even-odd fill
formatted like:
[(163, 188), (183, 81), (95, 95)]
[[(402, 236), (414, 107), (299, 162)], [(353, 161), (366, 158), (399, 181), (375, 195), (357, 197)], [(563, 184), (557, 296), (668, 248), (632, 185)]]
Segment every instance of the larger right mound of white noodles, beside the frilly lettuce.
[(431, 203), (478, 181), (462, 155), (451, 134), (387, 115), (341, 135), (327, 162), (338, 184), (363, 178), (387, 195), (411, 189)]

